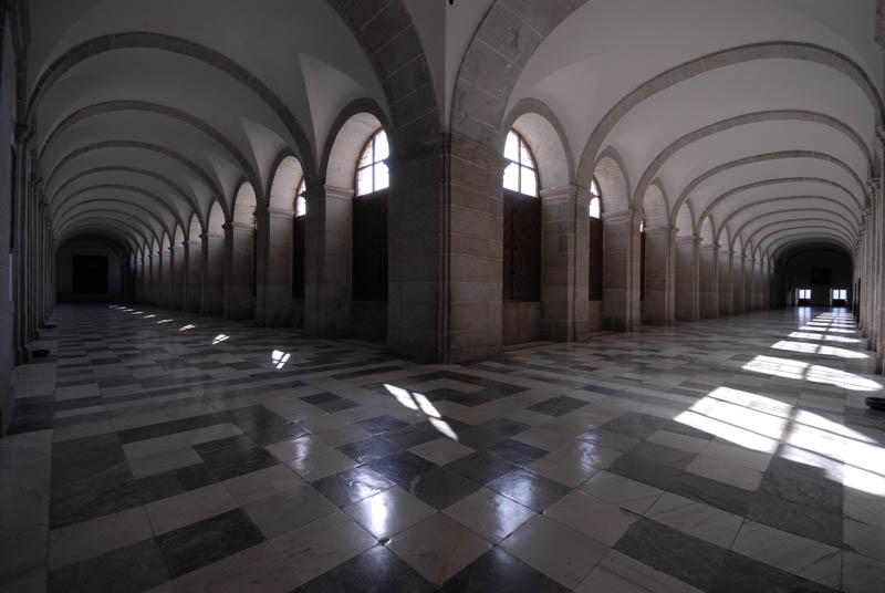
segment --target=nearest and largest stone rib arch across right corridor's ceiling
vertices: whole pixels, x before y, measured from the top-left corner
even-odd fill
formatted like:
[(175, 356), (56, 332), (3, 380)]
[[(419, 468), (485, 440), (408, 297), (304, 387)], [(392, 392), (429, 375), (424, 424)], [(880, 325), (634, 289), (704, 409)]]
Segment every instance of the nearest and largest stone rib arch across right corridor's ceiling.
[[(593, 163), (596, 150), (605, 141), (605, 137), (614, 129), (618, 121), (636, 105), (646, 98), (679, 84), (687, 79), (704, 74), (717, 67), (723, 67), (751, 60), (775, 60), (791, 59), (816, 62), (829, 67), (833, 67), (852, 79), (864, 92), (870, 102), (875, 105), (876, 124), (882, 122), (882, 114), (885, 112), (885, 103), (876, 89), (875, 83), (864, 72), (864, 70), (844, 54), (812, 43), (771, 41), (739, 45), (719, 52), (707, 54), (702, 58), (690, 60), (670, 70), (658, 74), (636, 87), (628, 95), (624, 96), (603, 116), (596, 128), (587, 139), (581, 156), (581, 165), (577, 175), (579, 183), (583, 180), (585, 163)], [(871, 170), (872, 170), (872, 159)], [(642, 184), (641, 184), (642, 186)]]

